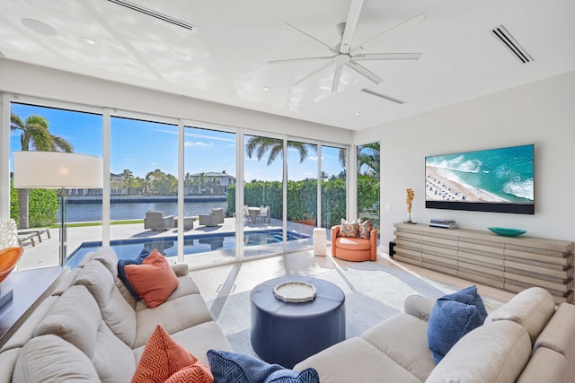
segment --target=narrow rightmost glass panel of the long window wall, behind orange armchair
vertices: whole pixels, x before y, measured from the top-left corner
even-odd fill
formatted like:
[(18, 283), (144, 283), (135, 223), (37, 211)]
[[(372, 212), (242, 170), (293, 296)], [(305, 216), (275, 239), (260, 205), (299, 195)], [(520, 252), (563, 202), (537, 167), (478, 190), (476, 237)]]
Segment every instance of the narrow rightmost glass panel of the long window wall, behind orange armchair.
[(330, 228), (340, 224), (346, 217), (347, 151), (345, 148), (322, 146), (322, 224), (327, 229), (328, 239), (332, 238)]

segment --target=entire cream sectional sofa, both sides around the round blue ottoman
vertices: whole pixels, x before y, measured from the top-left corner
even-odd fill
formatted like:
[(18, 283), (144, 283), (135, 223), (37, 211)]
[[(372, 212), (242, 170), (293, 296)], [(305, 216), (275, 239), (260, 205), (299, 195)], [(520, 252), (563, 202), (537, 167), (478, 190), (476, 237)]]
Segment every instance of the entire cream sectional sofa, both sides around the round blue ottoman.
[[(157, 324), (203, 363), (209, 349), (232, 351), (187, 265), (173, 265), (179, 285), (155, 309), (131, 297), (116, 265), (111, 248), (102, 248), (66, 275), (0, 350), (0, 383), (129, 381)], [(427, 337), (434, 304), (411, 296), (403, 313), (294, 370), (312, 367), (322, 383), (575, 381), (575, 306), (556, 307), (549, 292), (527, 289), (436, 364)]]

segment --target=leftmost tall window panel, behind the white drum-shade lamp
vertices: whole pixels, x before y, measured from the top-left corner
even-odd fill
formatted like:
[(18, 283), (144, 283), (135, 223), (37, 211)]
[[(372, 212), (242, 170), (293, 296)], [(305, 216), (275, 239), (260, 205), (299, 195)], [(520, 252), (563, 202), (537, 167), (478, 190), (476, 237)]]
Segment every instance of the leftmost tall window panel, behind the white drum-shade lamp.
[[(84, 111), (52, 108), (12, 102), (10, 105), (10, 152), (75, 152), (102, 157), (102, 115)], [(13, 163), (13, 160), (12, 160)], [(11, 183), (10, 216), (21, 232), (25, 229), (49, 229), (41, 233), (32, 246), (31, 239), (23, 242), (20, 269), (58, 265), (61, 224), (59, 199), (55, 189), (13, 189)], [(102, 189), (66, 190), (65, 257), (84, 241), (102, 240)], [(27, 238), (23, 235), (22, 238)], [(49, 244), (55, 246), (47, 246)], [(36, 248), (38, 246), (38, 248)], [(41, 247), (41, 249), (40, 249)]]

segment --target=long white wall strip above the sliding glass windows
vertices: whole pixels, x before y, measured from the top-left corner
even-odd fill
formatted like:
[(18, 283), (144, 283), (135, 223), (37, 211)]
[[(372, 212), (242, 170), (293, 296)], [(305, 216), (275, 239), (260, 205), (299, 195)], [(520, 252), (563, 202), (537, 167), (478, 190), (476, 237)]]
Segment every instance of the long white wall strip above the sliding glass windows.
[(349, 144), (351, 131), (0, 58), (0, 91)]

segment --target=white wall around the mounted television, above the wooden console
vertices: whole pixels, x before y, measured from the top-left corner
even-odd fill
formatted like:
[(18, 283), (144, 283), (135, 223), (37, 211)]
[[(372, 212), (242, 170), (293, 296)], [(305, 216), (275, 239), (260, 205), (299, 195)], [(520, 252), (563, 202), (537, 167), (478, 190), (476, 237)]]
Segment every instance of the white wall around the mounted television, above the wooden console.
[[(354, 133), (354, 142), (381, 141), (382, 250), (394, 222), (453, 218), (461, 228), (502, 226), (526, 235), (575, 239), (575, 72), (465, 101)], [(426, 209), (426, 155), (535, 144), (535, 215)]]

